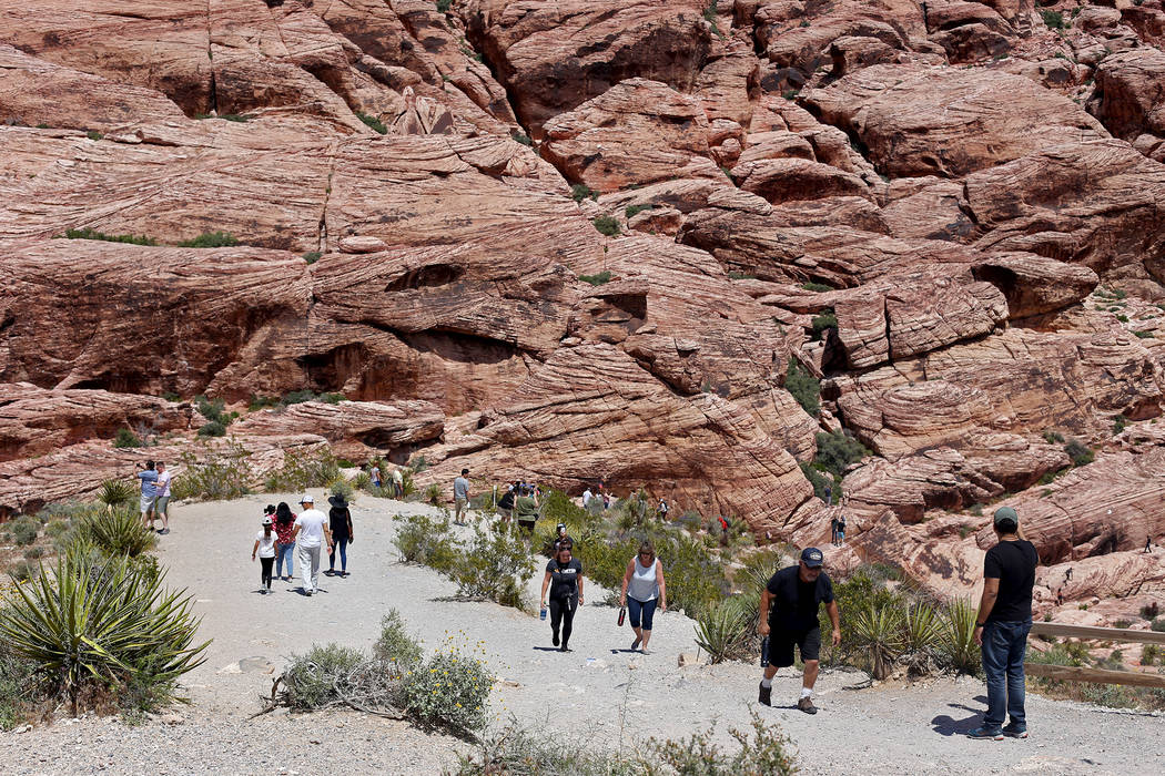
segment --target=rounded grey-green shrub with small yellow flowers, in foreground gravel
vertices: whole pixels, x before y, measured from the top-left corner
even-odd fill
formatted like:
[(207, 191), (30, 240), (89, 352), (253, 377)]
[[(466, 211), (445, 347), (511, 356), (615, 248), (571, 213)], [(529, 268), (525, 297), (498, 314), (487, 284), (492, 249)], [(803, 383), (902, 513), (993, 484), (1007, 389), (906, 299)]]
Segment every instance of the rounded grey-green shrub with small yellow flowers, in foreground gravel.
[(425, 725), (463, 734), (480, 731), (494, 683), (482, 656), (483, 650), (467, 650), (446, 638), (428, 661), (405, 674), (405, 709)]

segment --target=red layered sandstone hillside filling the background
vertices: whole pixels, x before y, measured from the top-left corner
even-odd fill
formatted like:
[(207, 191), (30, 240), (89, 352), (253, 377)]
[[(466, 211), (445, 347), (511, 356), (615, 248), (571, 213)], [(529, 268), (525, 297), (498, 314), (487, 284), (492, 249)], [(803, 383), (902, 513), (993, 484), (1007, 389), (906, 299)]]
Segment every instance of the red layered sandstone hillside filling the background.
[(962, 590), (1004, 500), (1159, 595), (1163, 94), (1162, 0), (0, 0), (0, 504), (312, 390), (239, 439), (807, 543), (845, 429), (838, 562)]

